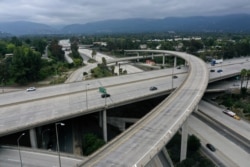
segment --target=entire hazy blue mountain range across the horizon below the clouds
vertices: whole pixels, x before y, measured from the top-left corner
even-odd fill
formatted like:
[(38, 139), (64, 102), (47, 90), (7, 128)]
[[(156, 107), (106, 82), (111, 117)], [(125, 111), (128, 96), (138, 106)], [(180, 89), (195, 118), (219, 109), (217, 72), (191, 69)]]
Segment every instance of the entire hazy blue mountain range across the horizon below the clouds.
[[(0, 34), (97, 34), (143, 32), (250, 32), (250, 15), (167, 17), (164, 19), (104, 20), (66, 25), (61, 29), (34, 22), (0, 22)], [(1, 35), (0, 35), (1, 36)]]

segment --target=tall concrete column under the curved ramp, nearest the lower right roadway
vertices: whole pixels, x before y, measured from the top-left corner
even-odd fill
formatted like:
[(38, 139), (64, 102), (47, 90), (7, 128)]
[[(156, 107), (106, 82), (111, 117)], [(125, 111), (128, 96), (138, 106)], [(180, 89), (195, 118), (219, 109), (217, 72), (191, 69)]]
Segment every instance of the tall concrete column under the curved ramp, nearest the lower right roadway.
[(181, 158), (180, 161), (186, 159), (187, 156), (187, 140), (188, 140), (188, 123), (187, 120), (183, 123), (181, 128)]

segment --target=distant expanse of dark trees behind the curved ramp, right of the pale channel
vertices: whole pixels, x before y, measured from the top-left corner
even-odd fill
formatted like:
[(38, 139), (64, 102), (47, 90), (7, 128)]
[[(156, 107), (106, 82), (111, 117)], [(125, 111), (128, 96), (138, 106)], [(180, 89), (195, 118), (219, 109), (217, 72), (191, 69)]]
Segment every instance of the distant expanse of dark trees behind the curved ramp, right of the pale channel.
[[(174, 40), (176, 38), (200, 36), (201, 40)], [(157, 39), (157, 40), (152, 40)], [(92, 44), (96, 40), (107, 43), (107, 46), (95, 46), (101, 52), (109, 52), (115, 55), (124, 55), (126, 49), (140, 49), (141, 44), (147, 48), (156, 49), (160, 46), (163, 50), (179, 50), (195, 54), (206, 59), (207, 56), (214, 58), (232, 58), (250, 55), (250, 36), (237, 34), (121, 34), (114, 36), (85, 36), (80, 43)], [(92, 42), (92, 43), (91, 43)]]

